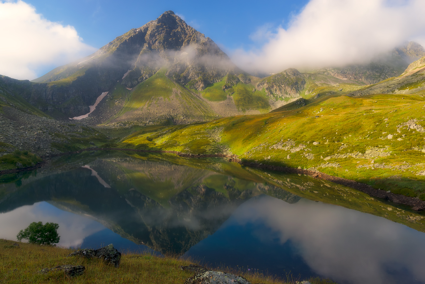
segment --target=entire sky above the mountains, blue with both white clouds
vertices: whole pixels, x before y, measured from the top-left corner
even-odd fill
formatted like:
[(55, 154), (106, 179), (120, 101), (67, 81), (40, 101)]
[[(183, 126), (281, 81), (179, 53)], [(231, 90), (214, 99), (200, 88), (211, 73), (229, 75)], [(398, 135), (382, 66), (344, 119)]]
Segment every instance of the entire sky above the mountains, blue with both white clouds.
[(35, 79), (168, 10), (247, 72), (362, 64), (406, 40), (425, 45), (424, 0), (0, 0), (0, 74)]

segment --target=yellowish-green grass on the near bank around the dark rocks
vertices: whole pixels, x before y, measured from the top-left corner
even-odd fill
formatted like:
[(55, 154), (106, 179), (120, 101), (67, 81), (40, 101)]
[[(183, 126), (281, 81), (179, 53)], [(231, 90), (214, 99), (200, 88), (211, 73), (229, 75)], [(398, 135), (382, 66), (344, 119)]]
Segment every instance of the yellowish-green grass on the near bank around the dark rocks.
[[(193, 263), (171, 256), (157, 257), (150, 254), (123, 254), (119, 268), (105, 264), (99, 259), (87, 259), (66, 256), (73, 250), (60, 247), (41, 246), (0, 239), (0, 283), (184, 283), (193, 275), (179, 269), (180, 265)], [(37, 273), (46, 267), (57, 265), (83, 265), (83, 275), (68, 277), (61, 272), (50, 274)], [(235, 273), (226, 269), (224, 272)], [(261, 273), (236, 274), (244, 276), (251, 283), (279, 284), (288, 283)], [(314, 278), (312, 283), (334, 283)]]

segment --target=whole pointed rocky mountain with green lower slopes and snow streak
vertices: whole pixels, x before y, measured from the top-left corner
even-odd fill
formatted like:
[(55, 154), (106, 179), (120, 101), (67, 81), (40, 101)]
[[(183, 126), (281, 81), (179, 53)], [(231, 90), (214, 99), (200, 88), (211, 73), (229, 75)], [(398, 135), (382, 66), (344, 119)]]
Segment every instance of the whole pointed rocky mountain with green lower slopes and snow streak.
[[(32, 82), (2, 77), (0, 85), (20, 85), (20, 96), (57, 119), (110, 127), (184, 124), (271, 111), (299, 96), (303, 82), (295, 71), (284, 71), (284, 80), (263, 82), (166, 11)], [(292, 76), (295, 85), (287, 85)]]

